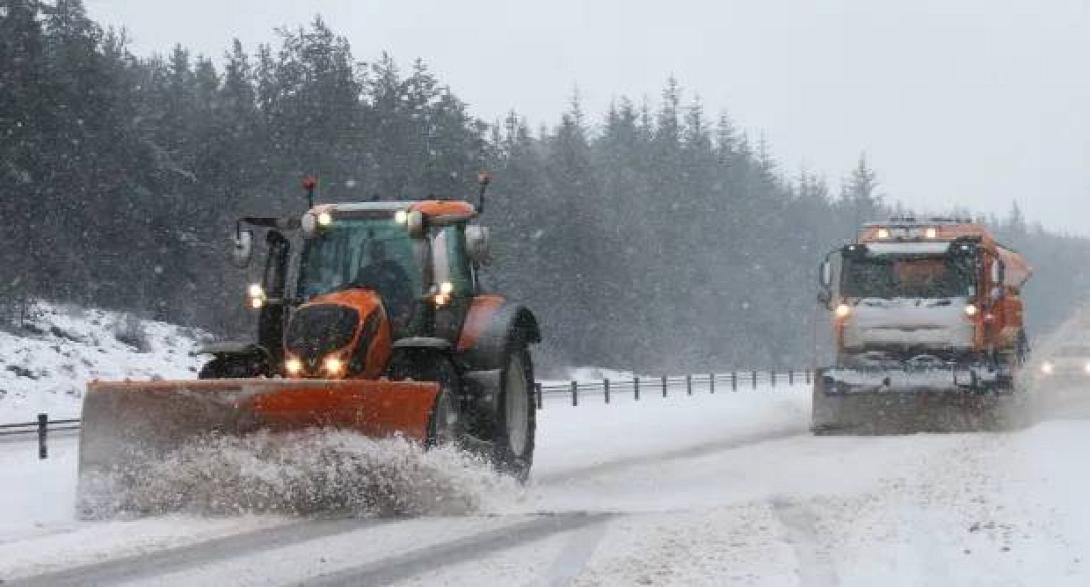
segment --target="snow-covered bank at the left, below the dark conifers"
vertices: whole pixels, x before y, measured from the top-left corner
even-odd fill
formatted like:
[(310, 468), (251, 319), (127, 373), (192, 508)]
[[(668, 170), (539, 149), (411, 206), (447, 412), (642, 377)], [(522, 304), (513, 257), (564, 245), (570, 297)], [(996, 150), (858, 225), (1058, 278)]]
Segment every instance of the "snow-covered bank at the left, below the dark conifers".
[(0, 424), (78, 417), (92, 379), (193, 377), (207, 335), (125, 314), (38, 303), (21, 327), (0, 330)]

